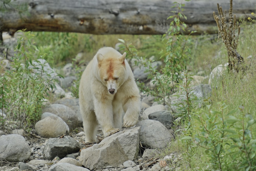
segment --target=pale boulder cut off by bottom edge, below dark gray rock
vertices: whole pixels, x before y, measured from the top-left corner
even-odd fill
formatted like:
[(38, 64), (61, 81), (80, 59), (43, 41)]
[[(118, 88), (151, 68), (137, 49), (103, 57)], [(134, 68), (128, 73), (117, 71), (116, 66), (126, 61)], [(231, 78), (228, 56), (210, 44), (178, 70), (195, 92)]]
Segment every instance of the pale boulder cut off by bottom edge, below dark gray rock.
[(84, 167), (79, 167), (75, 166), (69, 163), (57, 163), (52, 165), (48, 171), (71, 171), (71, 170), (76, 170), (76, 171), (90, 171), (87, 168)]

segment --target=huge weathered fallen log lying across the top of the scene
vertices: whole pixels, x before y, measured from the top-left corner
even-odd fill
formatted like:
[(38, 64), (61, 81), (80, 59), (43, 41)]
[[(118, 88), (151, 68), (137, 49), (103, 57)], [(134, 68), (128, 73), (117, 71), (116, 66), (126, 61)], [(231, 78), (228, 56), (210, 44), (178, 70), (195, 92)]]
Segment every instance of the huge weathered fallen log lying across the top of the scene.
[[(77, 32), (89, 34), (164, 34), (171, 22), (166, 20), (177, 12), (179, 0), (11, 0), (0, 10), (0, 31)], [(3, 1), (2, 1), (3, 2)], [(2, 3), (0, 2), (0, 3)], [(229, 0), (183, 1), (187, 30), (197, 34), (218, 33), (213, 17), (217, 3), (229, 9)], [(256, 0), (233, 0), (237, 18), (252, 17)], [(18, 6), (18, 7), (17, 7)], [(25, 7), (25, 12), (19, 11)], [(18, 9), (18, 10), (17, 10)]]

